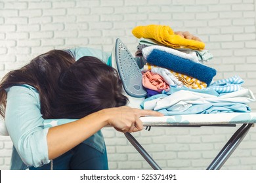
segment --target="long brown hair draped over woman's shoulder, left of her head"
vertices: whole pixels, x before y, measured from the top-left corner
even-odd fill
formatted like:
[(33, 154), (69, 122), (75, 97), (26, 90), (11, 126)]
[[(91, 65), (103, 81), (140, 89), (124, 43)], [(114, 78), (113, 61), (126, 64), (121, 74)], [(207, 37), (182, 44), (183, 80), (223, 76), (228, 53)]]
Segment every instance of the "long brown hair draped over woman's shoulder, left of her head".
[(71, 54), (51, 50), (32, 59), (30, 63), (7, 73), (0, 82), (0, 115), (5, 118), (7, 92), (5, 89), (19, 84), (29, 84), (39, 92), (43, 118), (52, 118), (52, 103), (60, 73), (75, 63)]

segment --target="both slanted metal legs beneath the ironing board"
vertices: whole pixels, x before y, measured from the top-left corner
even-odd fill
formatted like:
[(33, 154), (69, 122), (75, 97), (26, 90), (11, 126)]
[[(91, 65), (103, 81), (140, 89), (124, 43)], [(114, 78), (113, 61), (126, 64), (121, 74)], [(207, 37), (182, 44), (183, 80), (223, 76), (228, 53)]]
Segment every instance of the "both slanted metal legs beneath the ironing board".
[[(223, 149), (219, 152), (215, 159), (211, 162), (207, 170), (219, 170), (224, 165), (226, 160), (231, 156), (231, 154), (236, 150), (240, 142), (243, 141), (245, 135), (249, 131), (250, 127), (253, 124), (243, 124), (232, 137), (226, 142)], [(125, 137), (131, 142), (135, 149), (140, 153), (140, 155), (150, 164), (154, 170), (161, 170), (158, 164), (154, 161), (153, 158), (142, 148), (140, 143), (131, 135), (131, 133), (125, 133)]]

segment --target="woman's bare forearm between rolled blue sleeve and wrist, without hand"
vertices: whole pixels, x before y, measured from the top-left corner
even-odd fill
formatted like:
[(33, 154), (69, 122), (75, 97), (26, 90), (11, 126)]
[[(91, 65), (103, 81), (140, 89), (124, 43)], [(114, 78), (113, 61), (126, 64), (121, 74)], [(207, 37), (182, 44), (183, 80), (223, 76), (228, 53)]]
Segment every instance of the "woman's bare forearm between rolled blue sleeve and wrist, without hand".
[(106, 124), (104, 116), (96, 112), (80, 120), (49, 128), (47, 134), (49, 159), (57, 158), (74, 148)]

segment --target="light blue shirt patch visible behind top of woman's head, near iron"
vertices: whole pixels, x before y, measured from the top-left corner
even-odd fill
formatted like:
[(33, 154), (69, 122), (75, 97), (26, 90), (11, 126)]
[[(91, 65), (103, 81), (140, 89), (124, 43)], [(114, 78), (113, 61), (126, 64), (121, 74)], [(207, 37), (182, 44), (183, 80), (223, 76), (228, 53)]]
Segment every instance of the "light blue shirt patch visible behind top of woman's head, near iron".
[(86, 47), (72, 48), (70, 49), (70, 52), (74, 54), (75, 60), (83, 56), (93, 56), (98, 59), (101, 59), (102, 61), (104, 61), (104, 63), (107, 63), (108, 59), (110, 59), (110, 56), (111, 56), (110, 52), (103, 52), (102, 50), (86, 48)]

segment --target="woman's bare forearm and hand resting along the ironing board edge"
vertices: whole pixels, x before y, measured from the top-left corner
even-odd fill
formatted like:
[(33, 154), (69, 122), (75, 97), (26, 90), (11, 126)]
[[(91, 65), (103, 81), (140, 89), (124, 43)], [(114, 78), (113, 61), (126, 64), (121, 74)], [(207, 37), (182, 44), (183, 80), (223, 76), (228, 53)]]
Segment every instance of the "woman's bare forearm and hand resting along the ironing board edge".
[(47, 135), (49, 159), (64, 154), (106, 125), (112, 125), (123, 133), (139, 131), (143, 128), (140, 116), (163, 116), (163, 114), (126, 106), (106, 108), (75, 122), (52, 127)]

